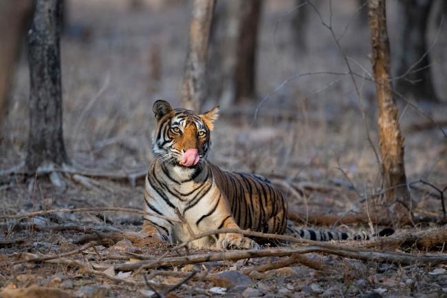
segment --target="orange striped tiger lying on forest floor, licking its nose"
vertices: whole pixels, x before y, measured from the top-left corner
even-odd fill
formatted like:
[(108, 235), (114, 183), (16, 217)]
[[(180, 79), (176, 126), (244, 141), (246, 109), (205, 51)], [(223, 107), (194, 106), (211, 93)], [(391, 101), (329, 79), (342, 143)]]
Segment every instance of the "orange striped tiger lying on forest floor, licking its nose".
[[(157, 123), (154, 158), (144, 183), (144, 236), (174, 244), (215, 229), (285, 233), (287, 200), (279, 188), (262, 176), (226, 172), (208, 161), (219, 106), (199, 114), (157, 100), (153, 113)], [(340, 232), (292, 232), (311, 240), (351, 237)], [(188, 247), (257, 249), (259, 244), (239, 233), (219, 233), (190, 241)]]

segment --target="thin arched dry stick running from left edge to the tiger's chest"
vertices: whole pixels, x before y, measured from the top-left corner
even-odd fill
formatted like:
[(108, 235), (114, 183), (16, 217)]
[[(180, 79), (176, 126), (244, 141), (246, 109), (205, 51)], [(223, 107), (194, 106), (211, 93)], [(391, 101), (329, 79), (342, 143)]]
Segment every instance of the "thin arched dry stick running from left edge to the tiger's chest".
[(63, 208), (63, 209), (49, 209), (49, 210), (41, 210), (41, 211), (33, 211), (29, 212), (27, 214), (22, 215), (0, 215), (1, 219), (23, 219), (23, 218), (30, 218), (34, 216), (40, 216), (44, 214), (52, 214), (52, 213), (59, 213), (59, 212), (100, 212), (100, 211), (116, 211), (116, 212), (128, 212), (128, 213), (136, 213), (136, 214), (142, 214), (142, 215), (150, 215), (157, 218), (162, 219), (168, 219), (173, 222), (180, 222), (178, 220), (172, 220), (171, 218), (167, 218), (166, 216), (162, 216), (160, 214), (152, 214), (146, 211), (142, 211), (140, 209), (132, 209), (132, 208), (120, 208), (120, 207), (100, 207), (100, 208)]

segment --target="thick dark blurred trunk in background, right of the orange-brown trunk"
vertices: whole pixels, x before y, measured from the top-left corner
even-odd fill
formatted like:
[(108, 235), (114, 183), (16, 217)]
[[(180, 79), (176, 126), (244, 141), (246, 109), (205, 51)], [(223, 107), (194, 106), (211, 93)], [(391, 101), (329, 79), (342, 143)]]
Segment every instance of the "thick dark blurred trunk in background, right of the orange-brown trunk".
[(397, 76), (404, 75), (404, 78), (397, 80), (396, 89), (415, 100), (438, 101), (427, 53), (428, 16), (433, 0), (400, 0), (397, 3), (398, 16), (402, 18), (398, 27)]

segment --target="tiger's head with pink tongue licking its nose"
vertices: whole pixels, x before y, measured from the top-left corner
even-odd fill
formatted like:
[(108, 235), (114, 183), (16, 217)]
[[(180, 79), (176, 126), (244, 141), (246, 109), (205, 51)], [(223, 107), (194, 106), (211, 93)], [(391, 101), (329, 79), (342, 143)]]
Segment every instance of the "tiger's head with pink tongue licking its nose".
[(212, 122), (219, 107), (197, 114), (184, 108), (171, 108), (164, 100), (153, 104), (157, 126), (153, 132), (152, 150), (162, 161), (193, 168), (204, 161), (210, 148)]

